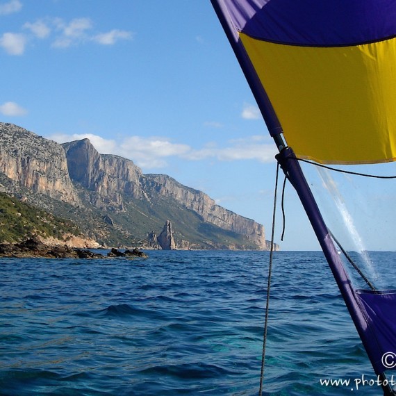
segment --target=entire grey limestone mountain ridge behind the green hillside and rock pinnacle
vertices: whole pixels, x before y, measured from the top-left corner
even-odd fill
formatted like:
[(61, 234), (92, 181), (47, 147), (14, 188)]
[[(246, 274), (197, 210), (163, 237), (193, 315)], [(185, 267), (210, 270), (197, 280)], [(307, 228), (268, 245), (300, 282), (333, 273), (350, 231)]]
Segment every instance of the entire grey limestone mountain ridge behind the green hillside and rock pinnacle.
[(101, 245), (149, 245), (170, 220), (176, 249), (267, 249), (261, 224), (170, 176), (99, 154), (88, 139), (58, 145), (1, 123), (0, 132), (1, 190), (67, 216)]

